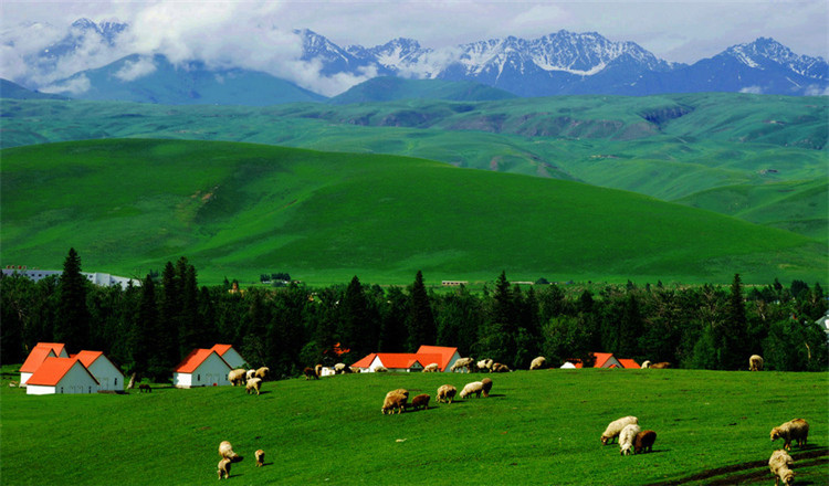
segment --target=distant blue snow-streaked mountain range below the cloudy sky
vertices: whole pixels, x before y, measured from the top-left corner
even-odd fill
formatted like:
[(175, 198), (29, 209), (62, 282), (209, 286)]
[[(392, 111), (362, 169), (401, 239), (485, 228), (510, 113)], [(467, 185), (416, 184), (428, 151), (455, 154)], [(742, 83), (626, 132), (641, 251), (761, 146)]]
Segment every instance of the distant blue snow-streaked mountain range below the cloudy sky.
[[(128, 32), (125, 23), (81, 19), (61, 41), (23, 59), (30, 72), (48, 73), (69, 56), (90, 51), (90, 45), (95, 46), (95, 52), (116, 52), (116, 46), (123, 46), (119, 40)], [(239, 105), (323, 101), (327, 96), (308, 81), (309, 68), (317, 80), (351, 80), (350, 87), (377, 77), (440, 81), (444, 84), (439, 89), (397, 88), (399, 94), (393, 96), (440, 92), (445, 99), (470, 96), (471, 92), (480, 93), (483, 99), (502, 96), (471, 89), (470, 83), (522, 97), (695, 92), (802, 96), (829, 92), (829, 64), (822, 57), (795, 54), (768, 38), (733, 45), (693, 64), (681, 64), (661, 60), (633, 42), (610, 41), (596, 32), (560, 30), (538, 39), (507, 36), (439, 50), (422, 47), (412, 39), (395, 39), (374, 47), (342, 47), (311, 30), (293, 33), (301, 44), (295, 62), (302, 66), (302, 75), (290, 71), (276, 75), (244, 65), (217, 68), (201, 59), (174, 63), (164, 53), (153, 52), (122, 55), (49, 86), (35, 85), (34, 76), (11, 81), (82, 99)], [(14, 47), (7, 40), (2, 43)], [(459, 89), (466, 95), (447, 94), (445, 82), (465, 83)], [(342, 92), (348, 87), (343, 86)], [(371, 99), (371, 89), (365, 86), (361, 92), (357, 101), (381, 101)], [(391, 95), (386, 91), (382, 96)]]

